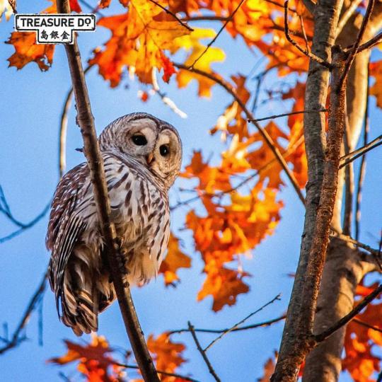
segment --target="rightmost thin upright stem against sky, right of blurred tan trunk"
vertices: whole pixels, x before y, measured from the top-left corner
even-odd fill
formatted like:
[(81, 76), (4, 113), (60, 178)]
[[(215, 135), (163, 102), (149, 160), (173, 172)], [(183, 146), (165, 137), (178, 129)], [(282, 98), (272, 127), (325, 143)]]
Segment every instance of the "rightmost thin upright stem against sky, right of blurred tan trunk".
[[(370, 117), (369, 117), (369, 96), (370, 96), (370, 61), (368, 62), (367, 69), (367, 93), (366, 93), (366, 110), (364, 115), (364, 146), (366, 146), (369, 139)], [(361, 200), (362, 200), (362, 185), (364, 184), (366, 174), (366, 155), (361, 158), (361, 165), (359, 166), (359, 173), (357, 179), (357, 192), (356, 192), (356, 206), (355, 206), (355, 239), (359, 240), (360, 226), (361, 226)]]

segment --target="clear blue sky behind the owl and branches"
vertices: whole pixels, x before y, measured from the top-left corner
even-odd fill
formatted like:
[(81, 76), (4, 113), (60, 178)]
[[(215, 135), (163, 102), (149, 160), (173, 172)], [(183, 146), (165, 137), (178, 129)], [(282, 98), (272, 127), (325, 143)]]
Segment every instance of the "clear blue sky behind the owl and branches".
[[(32, 6), (30, 1), (19, 0), (18, 11), (33, 13), (45, 8), (47, 4), (46, 1), (34, 3)], [(111, 12), (117, 13), (121, 9), (120, 6), (113, 6)], [(211, 28), (217, 26), (211, 23), (199, 25)], [(0, 40), (5, 41), (12, 29), (13, 21), (1, 21)], [(89, 57), (93, 47), (101, 45), (107, 37), (108, 32), (103, 28), (98, 28), (96, 33), (82, 33), (79, 46), (83, 61)], [(238, 72), (249, 74), (260, 58), (260, 54), (248, 52), (241, 40), (231, 40), (225, 33), (219, 37), (216, 46), (224, 47), (227, 58), (224, 63), (214, 67), (226, 77)], [(70, 79), (61, 46), (56, 49), (52, 68), (45, 73), (35, 64), (28, 64), (21, 71), (8, 68), (6, 59), (12, 53), (11, 45), (2, 45), (0, 184), (13, 214), (21, 221), (29, 221), (49, 202), (57, 185), (59, 116)], [(260, 71), (261, 68), (259, 66), (256, 70)], [(277, 78), (270, 75), (267, 82), (270, 84), (272, 81), (277, 81)], [(174, 81), (169, 86), (163, 85), (162, 90), (187, 113), (187, 119), (181, 119), (163, 105), (158, 97), (152, 97), (148, 103), (141, 103), (137, 98), (137, 91), (141, 89), (137, 81), (125, 81), (129, 88), (120, 86), (110, 89), (108, 83), (97, 74), (97, 70), (91, 69), (87, 82), (98, 133), (121, 115), (136, 111), (150, 112), (178, 128), (184, 145), (184, 165), (190, 161), (194, 149), (202, 149), (206, 156), (213, 153), (216, 160), (219, 158), (219, 137), (210, 137), (208, 129), (214, 126), (225, 106), (231, 103), (231, 98), (220, 88), (213, 88), (211, 99), (200, 99), (196, 96), (195, 82), (182, 90), (176, 88)], [(254, 86), (255, 81), (248, 81), (250, 89)], [(371, 105), (370, 140), (381, 134), (381, 112), (376, 110), (374, 100), (371, 100)], [(286, 112), (288, 108), (274, 102), (260, 108), (256, 116), (267, 116), (275, 111)], [(285, 126), (286, 121), (280, 120), (279, 123)], [(76, 127), (75, 110), (72, 107), (67, 141), (68, 169), (84, 160), (83, 155), (75, 151), (81, 146), (81, 134)], [(381, 151), (371, 151), (368, 163), (362, 203), (361, 241), (376, 246), (378, 231), (381, 229), (381, 218), (376, 213), (381, 207), (381, 192), (377, 192), (377, 185), (381, 183)], [(178, 186), (185, 184), (185, 180), (177, 183)], [(171, 201), (175, 202), (177, 196), (176, 192), (172, 192)], [(273, 303), (248, 323), (281, 315), (289, 300), (293, 279), (288, 274), (296, 269), (303, 226), (303, 207), (291, 187), (284, 189), (281, 198), (285, 207), (276, 232), (255, 248), (252, 260), (243, 259), (244, 269), (253, 275), (248, 279), (250, 293), (239, 296), (236, 306), (225, 307), (219, 313), (211, 310), (211, 299), (199, 303), (196, 301), (197, 291), (204, 280), (201, 274), (202, 262), (199, 254), (193, 250), (190, 231), (179, 231), (184, 225), (187, 209), (178, 209), (172, 216), (173, 227), (183, 239), (185, 252), (192, 257), (192, 269), (179, 272), (182, 282), (176, 289), (166, 289), (163, 287), (163, 278), (158, 277), (149, 286), (132, 291), (144, 332), (147, 335), (158, 335), (164, 330), (184, 328), (187, 320), (196, 327), (226, 328), (279, 293), (282, 293), (282, 301)], [(14, 228), (0, 216), (0, 236), (5, 236)], [(46, 228), (47, 216), (21, 236), (0, 244), (0, 323), (8, 323), (10, 333), (45, 272), (49, 260), (49, 253), (45, 249)], [(43, 346), (37, 343), (38, 316), (34, 313), (27, 328), (28, 341), (0, 357), (1, 381), (60, 381), (60, 369), (46, 364), (45, 360), (64, 353), (63, 339), (77, 338), (69, 328), (59, 323), (50, 290), (45, 294), (42, 312)], [(100, 316), (99, 333), (105, 335), (112, 346), (129, 348), (117, 304)], [(265, 361), (279, 347), (281, 334), (280, 323), (271, 328), (231, 333), (209, 350), (209, 358), (222, 381), (255, 381), (255, 378), (262, 375)], [(199, 335), (204, 345), (212, 339), (212, 335)], [(181, 372), (192, 373), (200, 381), (211, 381), (207, 367), (190, 336), (174, 335), (173, 340), (180, 340), (187, 345), (185, 358), (189, 361)], [(74, 367), (66, 370), (70, 375)], [(343, 381), (346, 380), (344, 376)]]

